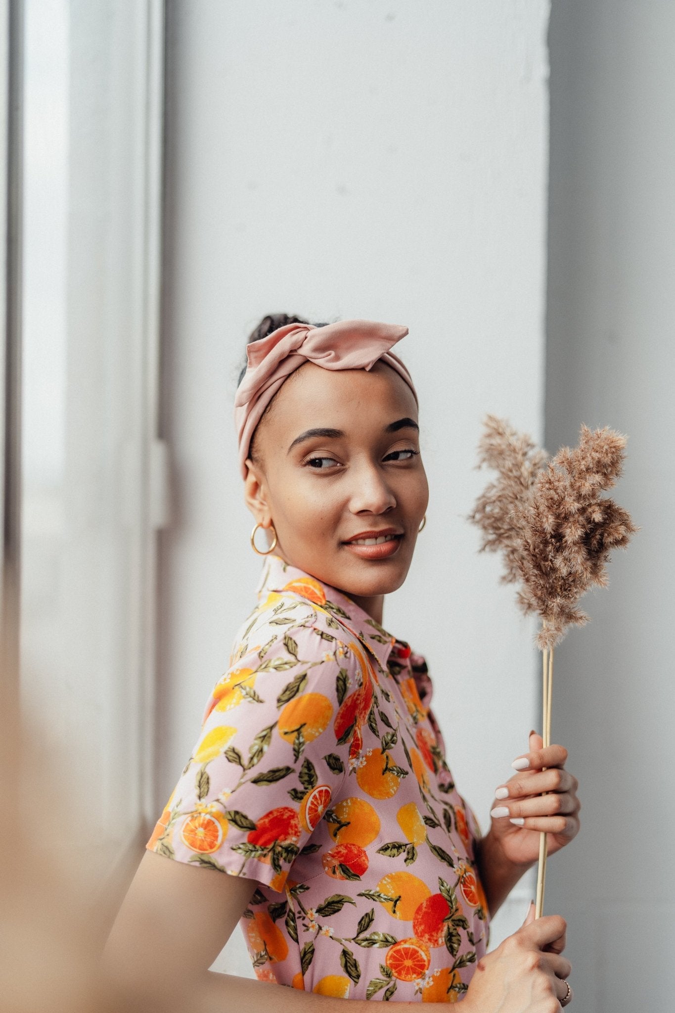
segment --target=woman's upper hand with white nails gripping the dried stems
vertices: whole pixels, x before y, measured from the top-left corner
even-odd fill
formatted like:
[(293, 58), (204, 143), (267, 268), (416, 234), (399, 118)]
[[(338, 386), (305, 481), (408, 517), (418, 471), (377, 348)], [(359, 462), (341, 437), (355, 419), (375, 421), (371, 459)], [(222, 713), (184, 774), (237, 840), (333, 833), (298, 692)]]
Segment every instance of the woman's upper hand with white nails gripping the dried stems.
[[(543, 749), (543, 739), (534, 731), (529, 735), (529, 753), (518, 758), (527, 760), (529, 766), (500, 785), (490, 813), (489, 836), (504, 858), (515, 865), (537, 861), (541, 831), (547, 832), (546, 850), (553, 855), (577, 836), (580, 827), (579, 782), (565, 770), (567, 750), (564, 746)], [(542, 795), (543, 791), (549, 794)], [(511, 823), (512, 819), (520, 825)]]

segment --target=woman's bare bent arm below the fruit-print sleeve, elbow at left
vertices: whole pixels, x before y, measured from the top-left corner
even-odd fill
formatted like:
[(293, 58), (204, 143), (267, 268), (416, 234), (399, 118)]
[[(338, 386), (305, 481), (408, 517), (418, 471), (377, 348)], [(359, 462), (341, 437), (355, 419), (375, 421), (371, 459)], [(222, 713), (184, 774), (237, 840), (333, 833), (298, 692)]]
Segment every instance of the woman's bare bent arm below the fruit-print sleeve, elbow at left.
[[(334, 999), (209, 971), (257, 883), (217, 869), (144, 854), (101, 957), (106, 981), (144, 1013), (366, 1013), (365, 1000)], [(273, 966), (273, 965), (272, 965)], [(413, 1003), (404, 1003), (413, 1006)]]

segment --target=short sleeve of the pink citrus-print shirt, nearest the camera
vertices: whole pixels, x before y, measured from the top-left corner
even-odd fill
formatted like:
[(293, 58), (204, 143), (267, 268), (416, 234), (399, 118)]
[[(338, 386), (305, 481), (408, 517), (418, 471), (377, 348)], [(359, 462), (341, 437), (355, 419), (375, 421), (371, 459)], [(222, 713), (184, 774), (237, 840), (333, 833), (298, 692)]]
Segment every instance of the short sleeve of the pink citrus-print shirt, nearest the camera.
[(361, 670), (309, 625), (234, 657), (146, 848), (280, 891), (349, 769), (350, 729), (335, 718)]

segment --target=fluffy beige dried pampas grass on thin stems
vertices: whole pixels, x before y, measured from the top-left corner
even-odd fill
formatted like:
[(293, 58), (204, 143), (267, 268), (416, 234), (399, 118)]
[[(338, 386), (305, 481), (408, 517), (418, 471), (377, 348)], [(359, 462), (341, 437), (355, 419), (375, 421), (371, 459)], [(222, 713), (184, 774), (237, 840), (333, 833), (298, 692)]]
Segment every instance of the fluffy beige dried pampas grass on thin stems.
[[(501, 552), (504, 583), (516, 583), (522, 611), (541, 620), (543, 746), (551, 745), (554, 647), (570, 626), (589, 620), (579, 599), (607, 585), (612, 549), (623, 549), (640, 529), (629, 514), (602, 493), (619, 478), (626, 438), (607, 426), (581, 426), (579, 446), (555, 457), (504, 418), (487, 415), (478, 467), (497, 472), (469, 520), (482, 532), (481, 550)], [(545, 768), (544, 768), (545, 769)], [(545, 832), (539, 836), (535, 917), (543, 911)]]

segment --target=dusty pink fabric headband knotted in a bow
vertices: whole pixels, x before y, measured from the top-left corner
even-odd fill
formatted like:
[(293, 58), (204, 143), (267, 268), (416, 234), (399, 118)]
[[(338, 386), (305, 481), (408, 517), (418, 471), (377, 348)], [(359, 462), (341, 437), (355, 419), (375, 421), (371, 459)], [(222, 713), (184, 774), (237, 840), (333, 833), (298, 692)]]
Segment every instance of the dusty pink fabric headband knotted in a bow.
[(267, 337), (246, 345), (247, 368), (235, 395), (235, 425), (239, 465), (245, 461), (253, 431), (284, 380), (306, 362), (325, 370), (369, 370), (382, 359), (406, 381), (417, 401), (413, 380), (398, 356), (389, 349), (408, 333), (407, 327), (374, 320), (339, 320), (325, 327), (289, 323)]

